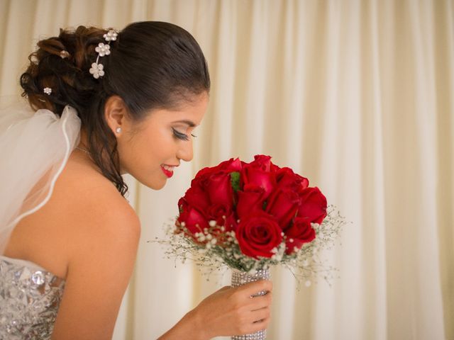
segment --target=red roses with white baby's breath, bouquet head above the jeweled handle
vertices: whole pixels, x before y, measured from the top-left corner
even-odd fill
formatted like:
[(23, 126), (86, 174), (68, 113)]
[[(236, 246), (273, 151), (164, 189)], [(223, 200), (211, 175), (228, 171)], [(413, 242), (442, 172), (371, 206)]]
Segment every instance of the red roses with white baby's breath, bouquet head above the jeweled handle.
[(335, 268), (319, 258), (345, 224), (317, 187), (270, 156), (253, 162), (229, 159), (201, 169), (178, 202), (179, 215), (167, 230), (168, 257), (211, 271), (228, 266), (255, 275), (270, 266), (289, 268), (297, 278), (323, 277)]

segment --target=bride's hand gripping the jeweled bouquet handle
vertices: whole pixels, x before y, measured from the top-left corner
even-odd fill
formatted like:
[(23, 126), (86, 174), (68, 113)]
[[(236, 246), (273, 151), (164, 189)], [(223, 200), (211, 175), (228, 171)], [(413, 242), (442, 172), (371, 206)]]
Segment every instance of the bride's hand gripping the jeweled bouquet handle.
[[(266, 295), (252, 297), (265, 290)], [(270, 323), (272, 282), (258, 280), (237, 288), (223, 287), (192, 311), (201, 330), (200, 339), (250, 334)]]

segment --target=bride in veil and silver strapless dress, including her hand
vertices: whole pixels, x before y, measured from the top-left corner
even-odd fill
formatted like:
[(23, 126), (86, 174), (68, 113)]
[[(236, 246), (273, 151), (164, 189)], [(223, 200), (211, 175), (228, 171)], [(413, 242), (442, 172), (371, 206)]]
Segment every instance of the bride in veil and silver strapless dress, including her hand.
[[(206, 61), (186, 30), (150, 21), (60, 30), (29, 59), (32, 110), (0, 116), (0, 339), (111, 339), (140, 237), (121, 174), (158, 190), (192, 159)], [(260, 290), (221, 288), (160, 339), (264, 329)]]

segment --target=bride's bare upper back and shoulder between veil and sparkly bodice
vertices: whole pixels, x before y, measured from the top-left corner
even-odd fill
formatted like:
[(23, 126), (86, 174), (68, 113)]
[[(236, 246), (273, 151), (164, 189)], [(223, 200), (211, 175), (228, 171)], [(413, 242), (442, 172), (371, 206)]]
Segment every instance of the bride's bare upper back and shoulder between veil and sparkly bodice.
[(105, 254), (105, 261), (133, 263), (139, 237), (140, 222), (128, 201), (87, 159), (73, 153), (48, 203), (13, 230), (5, 255), (66, 278), (74, 263), (101, 261)]

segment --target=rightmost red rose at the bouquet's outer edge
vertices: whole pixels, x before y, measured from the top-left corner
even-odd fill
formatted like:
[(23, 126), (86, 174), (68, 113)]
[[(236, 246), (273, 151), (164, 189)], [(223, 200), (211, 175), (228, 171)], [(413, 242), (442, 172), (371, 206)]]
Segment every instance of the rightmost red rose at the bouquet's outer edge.
[(320, 224), (326, 217), (326, 205), (326, 197), (319, 188), (306, 188), (301, 193), (298, 216), (305, 217), (309, 222)]

